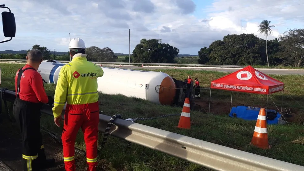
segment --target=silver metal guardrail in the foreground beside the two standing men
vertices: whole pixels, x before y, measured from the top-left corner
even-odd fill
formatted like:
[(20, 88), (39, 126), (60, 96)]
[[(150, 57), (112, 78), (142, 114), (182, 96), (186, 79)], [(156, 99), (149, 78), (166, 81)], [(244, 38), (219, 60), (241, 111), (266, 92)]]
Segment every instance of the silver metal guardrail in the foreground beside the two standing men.
[[(14, 101), (15, 92), (6, 90), (7, 101)], [(52, 106), (44, 104), (42, 113), (53, 116)], [(62, 111), (62, 117), (64, 111)], [(111, 119), (99, 114), (99, 131), (104, 130)], [(151, 148), (209, 169), (220, 171), (300, 171), (303, 166), (259, 156), (234, 148), (209, 143), (158, 128), (133, 123), (123, 119), (113, 122), (109, 135), (131, 143)]]

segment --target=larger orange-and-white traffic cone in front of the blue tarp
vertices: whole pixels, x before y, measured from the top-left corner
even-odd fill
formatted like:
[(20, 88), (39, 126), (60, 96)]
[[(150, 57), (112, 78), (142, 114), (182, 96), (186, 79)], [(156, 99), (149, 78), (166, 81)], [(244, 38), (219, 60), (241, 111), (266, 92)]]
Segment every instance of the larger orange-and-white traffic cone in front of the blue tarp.
[(268, 144), (267, 121), (264, 108), (260, 109), (250, 144), (262, 149), (268, 149), (271, 147)]

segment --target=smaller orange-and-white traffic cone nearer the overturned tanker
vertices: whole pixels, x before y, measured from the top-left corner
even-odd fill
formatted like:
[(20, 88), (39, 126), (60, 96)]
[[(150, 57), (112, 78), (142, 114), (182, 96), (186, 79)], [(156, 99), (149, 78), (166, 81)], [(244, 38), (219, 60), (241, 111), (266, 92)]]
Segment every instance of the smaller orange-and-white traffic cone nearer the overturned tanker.
[(178, 128), (190, 129), (190, 100), (189, 98), (185, 99), (184, 107), (182, 113), (180, 114)]

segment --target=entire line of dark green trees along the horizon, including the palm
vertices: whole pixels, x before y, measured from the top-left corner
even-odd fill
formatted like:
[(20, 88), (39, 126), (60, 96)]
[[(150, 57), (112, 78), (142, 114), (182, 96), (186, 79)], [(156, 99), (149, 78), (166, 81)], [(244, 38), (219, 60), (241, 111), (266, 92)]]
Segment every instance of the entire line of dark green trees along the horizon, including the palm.
[[(304, 29), (290, 29), (280, 37), (268, 40), (272, 34), (270, 21), (263, 20), (260, 34), (266, 35), (266, 40), (254, 34), (232, 34), (216, 40), (198, 51), (198, 64), (209, 65), (282, 65), (303, 66), (304, 58)], [(44, 54), (44, 59), (52, 59), (52, 53), (46, 47), (33, 45)], [(89, 61), (115, 62), (117, 56), (111, 48), (91, 46), (86, 49)], [(130, 62), (142, 63), (177, 63), (179, 49), (163, 43), (161, 39), (141, 39), (131, 54)], [(25, 59), (26, 54), (1, 54), (1, 58)], [(66, 55), (57, 55), (55, 60), (70, 60)], [(129, 56), (121, 62), (129, 62)]]

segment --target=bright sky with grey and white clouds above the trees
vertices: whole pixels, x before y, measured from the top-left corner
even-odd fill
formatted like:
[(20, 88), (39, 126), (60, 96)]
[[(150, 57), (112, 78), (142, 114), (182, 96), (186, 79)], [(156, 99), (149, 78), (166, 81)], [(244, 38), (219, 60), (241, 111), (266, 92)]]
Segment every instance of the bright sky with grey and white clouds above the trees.
[[(263, 20), (275, 26), (268, 40), (304, 27), (304, 0), (2, 0), (1, 4), (15, 15), (16, 35), (0, 44), (0, 51), (28, 50), (39, 44), (67, 52), (71, 35), (84, 40), (86, 47), (129, 54), (130, 29), (131, 54), (146, 38), (162, 39), (179, 54), (197, 55), (228, 34), (253, 33), (266, 39), (258, 31)], [(0, 39), (7, 40), (2, 27), (0, 32)]]

